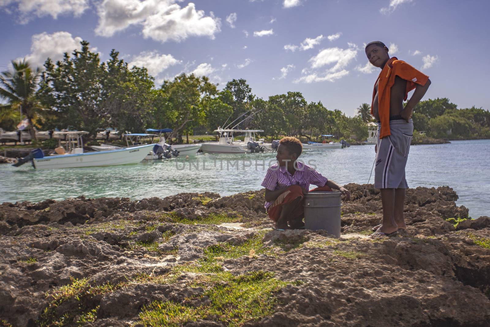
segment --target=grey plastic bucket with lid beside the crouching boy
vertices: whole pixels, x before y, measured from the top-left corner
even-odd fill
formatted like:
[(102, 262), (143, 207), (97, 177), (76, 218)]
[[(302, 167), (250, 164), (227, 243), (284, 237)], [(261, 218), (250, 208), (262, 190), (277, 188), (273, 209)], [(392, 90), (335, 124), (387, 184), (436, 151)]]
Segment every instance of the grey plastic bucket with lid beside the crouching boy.
[(304, 198), (305, 228), (325, 229), (330, 235), (340, 237), (340, 192), (308, 192)]

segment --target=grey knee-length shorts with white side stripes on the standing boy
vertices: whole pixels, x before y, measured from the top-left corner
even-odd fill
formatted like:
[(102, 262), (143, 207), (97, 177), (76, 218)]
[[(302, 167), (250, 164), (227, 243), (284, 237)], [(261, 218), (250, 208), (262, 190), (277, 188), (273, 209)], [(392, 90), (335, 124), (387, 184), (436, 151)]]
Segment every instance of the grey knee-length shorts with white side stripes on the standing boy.
[[(380, 126), (378, 135), (379, 129)], [(408, 123), (405, 120), (390, 121), (390, 132), (391, 135), (378, 138), (374, 187), (408, 188), (405, 166), (414, 134), (414, 123), (412, 120)]]

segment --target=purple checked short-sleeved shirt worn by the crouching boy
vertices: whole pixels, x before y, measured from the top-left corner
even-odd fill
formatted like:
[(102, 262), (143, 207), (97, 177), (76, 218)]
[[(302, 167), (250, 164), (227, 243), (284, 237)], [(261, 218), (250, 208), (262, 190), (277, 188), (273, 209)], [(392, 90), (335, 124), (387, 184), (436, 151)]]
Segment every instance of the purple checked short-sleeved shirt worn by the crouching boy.
[[(316, 170), (301, 162), (296, 162), (296, 171), (292, 176), (284, 167), (278, 167), (278, 164), (272, 165), (267, 170), (267, 174), (262, 181), (262, 186), (270, 191), (279, 190), (291, 185), (299, 185), (305, 189), (309, 189), (310, 184), (319, 187), (325, 186), (328, 181), (327, 177), (321, 176)], [(266, 209), (270, 207), (271, 202), (266, 202)]]

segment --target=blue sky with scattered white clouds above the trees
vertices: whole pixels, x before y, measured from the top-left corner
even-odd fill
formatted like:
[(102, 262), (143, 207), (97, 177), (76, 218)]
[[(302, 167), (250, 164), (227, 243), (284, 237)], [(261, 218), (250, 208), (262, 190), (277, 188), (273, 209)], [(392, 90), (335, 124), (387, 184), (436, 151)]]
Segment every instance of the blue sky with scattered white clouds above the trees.
[(245, 78), (258, 97), (299, 91), (352, 116), (379, 73), (364, 44), (380, 40), (430, 76), (424, 99), (488, 110), (489, 12), (486, 0), (0, 0), (0, 70), (60, 59), (84, 39), (158, 83)]

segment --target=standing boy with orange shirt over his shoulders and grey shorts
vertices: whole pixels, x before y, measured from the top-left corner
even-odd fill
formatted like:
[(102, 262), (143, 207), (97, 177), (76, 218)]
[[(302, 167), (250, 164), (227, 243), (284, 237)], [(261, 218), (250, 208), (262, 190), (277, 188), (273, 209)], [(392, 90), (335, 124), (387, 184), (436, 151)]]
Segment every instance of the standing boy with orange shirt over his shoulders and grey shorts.
[[(383, 221), (371, 236), (389, 236), (406, 228), (403, 218), (405, 189), (408, 188), (405, 165), (414, 132), (410, 118), (431, 82), (427, 75), (406, 62), (390, 58), (383, 42), (368, 43), (366, 55), (373, 66), (381, 69), (372, 92), (371, 115), (378, 122), (374, 187), (381, 191)], [(413, 89), (414, 94), (403, 107), (403, 101)]]

